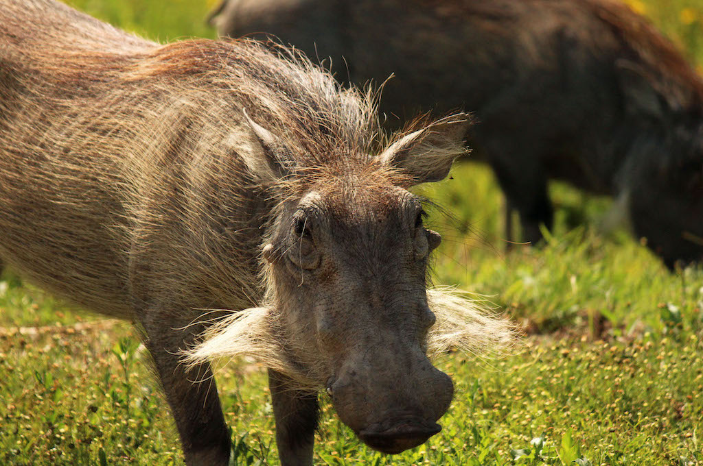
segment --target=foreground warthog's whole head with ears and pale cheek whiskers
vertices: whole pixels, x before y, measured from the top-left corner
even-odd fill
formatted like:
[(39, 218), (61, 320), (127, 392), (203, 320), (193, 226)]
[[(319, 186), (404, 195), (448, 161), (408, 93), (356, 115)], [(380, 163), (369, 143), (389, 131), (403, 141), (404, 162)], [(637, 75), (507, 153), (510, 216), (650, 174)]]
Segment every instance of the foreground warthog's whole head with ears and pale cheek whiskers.
[[(468, 302), (441, 293), (428, 302), (428, 260), (441, 237), (423, 225), (423, 200), (407, 188), (445, 178), (463, 151), (465, 121), (407, 133), (376, 157), (308, 168), (281, 164), (285, 142), (249, 123), (288, 192), (262, 246), (266, 303), (216, 325), (191, 357), (252, 354), (326, 390), (368, 446), (399, 453), (422, 444), (453, 397), (428, 350), (509, 340), (504, 321)], [(432, 333), (437, 319), (442, 331)]]

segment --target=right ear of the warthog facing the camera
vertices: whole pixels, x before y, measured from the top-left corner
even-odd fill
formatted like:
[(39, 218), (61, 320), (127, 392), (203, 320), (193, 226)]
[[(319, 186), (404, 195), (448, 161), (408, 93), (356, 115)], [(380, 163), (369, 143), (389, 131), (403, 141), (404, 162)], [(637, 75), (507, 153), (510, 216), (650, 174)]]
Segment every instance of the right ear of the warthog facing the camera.
[(470, 116), (458, 113), (435, 121), (393, 142), (379, 158), (411, 175), (413, 184), (444, 180), (454, 159), (465, 154)]

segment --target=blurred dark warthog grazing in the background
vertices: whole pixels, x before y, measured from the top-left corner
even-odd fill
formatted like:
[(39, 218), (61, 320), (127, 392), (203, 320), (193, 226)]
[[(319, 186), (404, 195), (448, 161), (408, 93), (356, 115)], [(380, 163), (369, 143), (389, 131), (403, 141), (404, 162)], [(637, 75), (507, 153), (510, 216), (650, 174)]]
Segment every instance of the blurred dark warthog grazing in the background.
[(394, 74), (381, 109), (401, 119), (474, 111), (472, 140), (527, 241), (552, 224), (547, 180), (560, 178), (619, 197), (667, 265), (703, 258), (703, 84), (622, 4), (225, 0), (213, 22), (222, 34), (266, 32), (330, 55), (342, 79)]

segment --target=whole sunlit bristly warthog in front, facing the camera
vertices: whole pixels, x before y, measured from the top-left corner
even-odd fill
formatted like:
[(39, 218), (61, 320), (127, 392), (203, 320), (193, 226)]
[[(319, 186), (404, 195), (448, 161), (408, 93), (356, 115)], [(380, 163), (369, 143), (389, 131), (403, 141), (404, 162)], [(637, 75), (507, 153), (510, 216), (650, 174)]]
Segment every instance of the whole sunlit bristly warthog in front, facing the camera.
[(53, 0), (4, 0), (0, 44), (0, 256), (141, 327), (188, 465), (230, 453), (217, 391), (191, 382), (209, 357), (268, 364), (281, 462), (311, 465), (316, 390), (397, 453), (452, 398), (428, 352), (510, 342), (425, 291), (440, 237), (406, 189), (446, 176), (462, 115), (381, 145), (370, 96), (293, 53), (162, 46)]

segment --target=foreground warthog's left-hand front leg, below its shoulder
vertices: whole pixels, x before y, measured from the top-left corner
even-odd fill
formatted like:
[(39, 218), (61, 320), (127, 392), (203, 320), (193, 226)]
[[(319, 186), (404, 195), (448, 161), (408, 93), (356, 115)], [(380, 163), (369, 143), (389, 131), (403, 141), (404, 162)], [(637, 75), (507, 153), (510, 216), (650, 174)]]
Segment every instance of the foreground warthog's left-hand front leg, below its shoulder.
[(172, 322), (167, 328), (163, 324), (150, 326), (148, 322), (142, 325), (146, 346), (176, 420), (186, 465), (228, 465), (231, 438), (210, 366), (200, 364), (186, 371), (179, 364), (179, 350), (188, 345), (194, 332), (190, 328), (175, 330), (179, 327)]

